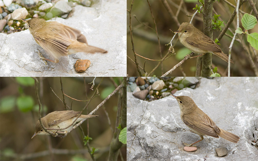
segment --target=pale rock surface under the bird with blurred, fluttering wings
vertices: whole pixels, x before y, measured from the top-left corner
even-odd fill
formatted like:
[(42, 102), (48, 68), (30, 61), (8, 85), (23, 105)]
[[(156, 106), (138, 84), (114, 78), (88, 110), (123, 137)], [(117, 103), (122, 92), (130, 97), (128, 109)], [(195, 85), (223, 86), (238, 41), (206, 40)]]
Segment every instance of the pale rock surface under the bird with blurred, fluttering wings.
[[(99, 1), (92, 7), (75, 6), (68, 19), (56, 21), (79, 29), (88, 44), (108, 53), (83, 53), (61, 57), (59, 63), (45, 63), (38, 57), (39, 49), (29, 30), (13, 34), (0, 33), (0, 76), (126, 76), (126, 1)], [(77, 73), (77, 59), (89, 59), (91, 66)]]

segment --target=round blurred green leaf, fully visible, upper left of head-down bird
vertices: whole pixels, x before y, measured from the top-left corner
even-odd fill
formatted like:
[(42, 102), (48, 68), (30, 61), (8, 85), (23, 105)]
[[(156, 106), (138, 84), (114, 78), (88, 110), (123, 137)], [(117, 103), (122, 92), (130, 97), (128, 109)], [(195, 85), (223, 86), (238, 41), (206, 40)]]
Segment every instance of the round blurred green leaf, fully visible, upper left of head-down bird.
[(17, 106), (21, 112), (28, 112), (32, 110), (34, 101), (31, 96), (20, 96), (17, 99)]

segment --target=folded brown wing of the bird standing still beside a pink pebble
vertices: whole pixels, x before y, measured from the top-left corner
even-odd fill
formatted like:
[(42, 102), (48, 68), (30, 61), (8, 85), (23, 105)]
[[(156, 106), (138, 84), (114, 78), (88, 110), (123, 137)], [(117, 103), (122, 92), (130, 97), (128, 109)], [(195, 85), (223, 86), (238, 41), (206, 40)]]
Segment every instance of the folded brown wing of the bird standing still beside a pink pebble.
[[(205, 113), (204, 113), (205, 114)], [(212, 136), (215, 138), (219, 138), (217, 135), (217, 132), (220, 132), (220, 129), (216, 126), (216, 124), (212, 121), (211, 118), (208, 117), (208, 115), (203, 115), (203, 117), (198, 118), (198, 124), (193, 123), (192, 120), (197, 121), (196, 119), (189, 119), (189, 115), (183, 115), (183, 122), (191, 127), (192, 129), (196, 130), (197, 132)]]

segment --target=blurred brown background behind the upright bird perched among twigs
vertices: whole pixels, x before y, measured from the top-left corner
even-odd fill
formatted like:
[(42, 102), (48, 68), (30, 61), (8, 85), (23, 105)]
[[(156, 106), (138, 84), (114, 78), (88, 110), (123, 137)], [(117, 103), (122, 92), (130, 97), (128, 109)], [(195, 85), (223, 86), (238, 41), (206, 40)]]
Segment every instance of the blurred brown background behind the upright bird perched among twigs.
[[(127, 10), (131, 8), (131, 2), (127, 1)], [(165, 2), (171, 8), (173, 15), (176, 17), (179, 23), (172, 18), (169, 14), (168, 10), (164, 7)], [(234, 0), (228, 0), (227, 2), (231, 3), (232, 5), (236, 6)], [(258, 1), (253, 1), (255, 3), (257, 9)], [(165, 46), (165, 44), (170, 43), (172, 37), (174, 36), (172, 31), (177, 31), (179, 25), (182, 22), (189, 22), (191, 17), (187, 15), (192, 15), (196, 10), (193, 10), (196, 7), (196, 4), (200, 5), (197, 0), (170, 0), (170, 1), (149, 1), (151, 5), (152, 14), (154, 16), (155, 22), (157, 24), (157, 31), (160, 39), (160, 46), (162, 51), (162, 57), (164, 57), (168, 51), (169, 46)], [(181, 8), (178, 11), (178, 8)], [(234, 11), (234, 8), (230, 6), (230, 4), (226, 3), (226, 1), (215, 1), (213, 3), (213, 13), (220, 14), (219, 20), (224, 21), (221, 25), (221, 29), (225, 27), (224, 24), (228, 22), (230, 19), (231, 14)], [(202, 9), (201, 9), (202, 10)], [(241, 7), (240, 10), (254, 15), (252, 12), (252, 8), (249, 2), (245, 2)], [(215, 12), (214, 12), (215, 11)], [(241, 24), (241, 17), (244, 14), (241, 12), (239, 13), (239, 27), (244, 29)], [(135, 18), (136, 16), (136, 18)], [(230, 28), (234, 32), (236, 30), (236, 17), (234, 18)], [(143, 24), (142, 24), (143, 23)], [(145, 25), (144, 25), (145, 24)], [(192, 24), (203, 32), (203, 14), (197, 13), (192, 21)], [(151, 28), (147, 27), (150, 26)], [(134, 48), (137, 54), (149, 58), (160, 60), (162, 59), (159, 53), (159, 46), (158, 46), (158, 39), (155, 31), (155, 24), (150, 12), (149, 4), (147, 1), (134, 1), (132, 6), (132, 30), (133, 30), (133, 41), (134, 41)], [(249, 33), (258, 32), (258, 25), (256, 24), (253, 29), (248, 30)], [(213, 32), (213, 40), (219, 36), (221, 31), (214, 30)], [(227, 34), (233, 36), (232, 32), (228, 30)], [(247, 42), (247, 35), (240, 35), (237, 34), (237, 38), (241, 40), (241, 43), (244, 44), (245, 48), (251, 52), (248, 54), (244, 51), (243, 47), (240, 45), (239, 42), (235, 41), (232, 47), (231, 52), (231, 59), (235, 62), (235, 64), (231, 64), (231, 76), (255, 76), (254, 69), (251, 67), (250, 58), (253, 59), (252, 61), (256, 65), (257, 68), (257, 50), (254, 48), (251, 49), (249, 43)], [(228, 55), (229, 46), (231, 43), (231, 38), (224, 35), (220, 40), (220, 48), (222, 51)], [(178, 39), (178, 35), (172, 41), (173, 47), (175, 49), (176, 55), (172, 55), (167, 60), (163, 61), (163, 72), (162, 72), (162, 65), (160, 65), (153, 73), (149, 76), (161, 76), (166, 71), (170, 70), (173, 66), (178, 64), (185, 55), (191, 53), (190, 50), (185, 48)], [(255, 53), (256, 52), (256, 53)], [(171, 55), (171, 54), (169, 54)], [(196, 54), (194, 55), (196, 56)], [(129, 57), (129, 58), (128, 58)], [(132, 60), (130, 60), (132, 59)], [(137, 61), (139, 66), (144, 68), (147, 73), (150, 73), (154, 67), (157, 66), (159, 61), (150, 61), (144, 58), (137, 56)], [(171, 74), (167, 76), (195, 76), (196, 71), (196, 61), (197, 58), (188, 59), (184, 62), (179, 68), (175, 69)], [(220, 59), (219, 57), (213, 55), (212, 56), (212, 63), (214, 67), (218, 68), (217, 73), (221, 76), (227, 76), (227, 62)], [(142, 74), (144, 74), (143, 70), (140, 69)], [(139, 76), (138, 71), (136, 70), (136, 65), (134, 64), (134, 55), (132, 51), (132, 43), (130, 38), (129, 32), (129, 13), (127, 12), (127, 74), (128, 76)], [(184, 75), (185, 74), (185, 75)]]

